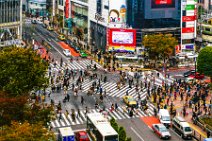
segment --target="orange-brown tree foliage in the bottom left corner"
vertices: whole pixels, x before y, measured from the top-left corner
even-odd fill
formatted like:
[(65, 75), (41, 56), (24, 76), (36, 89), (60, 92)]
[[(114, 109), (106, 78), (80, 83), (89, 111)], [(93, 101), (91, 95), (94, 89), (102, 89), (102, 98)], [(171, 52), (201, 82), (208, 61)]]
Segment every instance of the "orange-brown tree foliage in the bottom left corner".
[(12, 122), (11, 126), (5, 126), (0, 130), (1, 141), (49, 141), (56, 140), (54, 133), (48, 131), (40, 123), (29, 124), (28, 122)]

